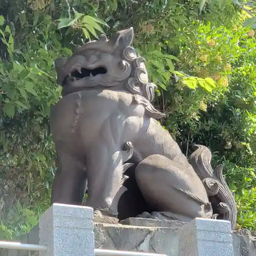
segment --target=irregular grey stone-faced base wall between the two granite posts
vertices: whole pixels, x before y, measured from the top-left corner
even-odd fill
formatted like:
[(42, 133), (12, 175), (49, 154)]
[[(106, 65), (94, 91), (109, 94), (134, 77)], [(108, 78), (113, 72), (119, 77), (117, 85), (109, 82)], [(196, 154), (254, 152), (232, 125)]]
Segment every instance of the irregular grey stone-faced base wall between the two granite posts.
[[(96, 223), (95, 248), (166, 253), (177, 246), (172, 228), (141, 227)], [(177, 255), (176, 255), (177, 256)]]

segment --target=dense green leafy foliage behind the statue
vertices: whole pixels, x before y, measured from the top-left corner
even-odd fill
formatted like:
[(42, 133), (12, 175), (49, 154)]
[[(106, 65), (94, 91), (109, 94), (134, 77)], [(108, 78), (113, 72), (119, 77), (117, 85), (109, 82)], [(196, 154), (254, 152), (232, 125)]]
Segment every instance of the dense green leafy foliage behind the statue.
[(256, 229), (250, 3), (245, 12), (231, 0), (0, 0), (0, 239), (29, 231), (49, 206), (56, 169), (50, 105), (60, 97), (54, 60), (130, 26), (158, 85), (162, 125), (186, 155), (194, 143), (210, 147), (213, 164), (225, 164), (238, 228)]

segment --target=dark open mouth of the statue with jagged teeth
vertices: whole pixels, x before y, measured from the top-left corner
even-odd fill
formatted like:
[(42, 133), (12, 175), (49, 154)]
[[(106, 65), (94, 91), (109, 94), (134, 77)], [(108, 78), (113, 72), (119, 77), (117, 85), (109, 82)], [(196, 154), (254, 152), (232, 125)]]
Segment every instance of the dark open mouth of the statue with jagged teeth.
[(95, 69), (86, 69), (86, 68), (76, 69), (63, 79), (62, 85), (65, 86), (70, 82), (80, 80), (84, 77), (94, 77), (96, 75), (106, 74), (107, 72), (108, 71), (104, 67), (98, 67)]

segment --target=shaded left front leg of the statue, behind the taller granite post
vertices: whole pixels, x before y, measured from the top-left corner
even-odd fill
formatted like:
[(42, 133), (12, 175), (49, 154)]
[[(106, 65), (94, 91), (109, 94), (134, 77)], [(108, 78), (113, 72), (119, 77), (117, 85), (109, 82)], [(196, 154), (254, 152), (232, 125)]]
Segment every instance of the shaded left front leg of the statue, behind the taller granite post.
[(87, 187), (84, 164), (65, 145), (57, 145), (58, 168), (54, 177), (51, 204), (81, 205)]

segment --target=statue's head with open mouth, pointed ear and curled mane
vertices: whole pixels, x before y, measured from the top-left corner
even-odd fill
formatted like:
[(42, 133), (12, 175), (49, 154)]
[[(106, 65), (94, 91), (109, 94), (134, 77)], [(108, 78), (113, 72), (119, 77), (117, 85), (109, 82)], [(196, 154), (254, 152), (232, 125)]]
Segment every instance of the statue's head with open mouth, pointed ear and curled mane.
[(62, 95), (122, 83), (123, 89), (152, 101), (156, 86), (148, 82), (145, 59), (131, 46), (133, 36), (133, 28), (118, 31), (109, 40), (101, 35), (71, 57), (58, 58), (55, 67)]

